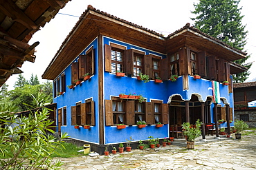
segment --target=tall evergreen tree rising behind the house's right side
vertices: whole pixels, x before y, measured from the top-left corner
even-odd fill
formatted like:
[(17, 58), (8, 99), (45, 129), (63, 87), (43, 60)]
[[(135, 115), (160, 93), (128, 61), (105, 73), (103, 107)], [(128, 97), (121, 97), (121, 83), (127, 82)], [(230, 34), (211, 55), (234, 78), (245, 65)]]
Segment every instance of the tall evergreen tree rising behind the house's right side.
[[(248, 31), (241, 23), (244, 15), (241, 15), (241, 8), (238, 8), (239, 2), (240, 0), (200, 0), (198, 4), (194, 3), (195, 10), (192, 12), (197, 14), (197, 17), (191, 19), (195, 21), (195, 27), (201, 32), (210, 34), (238, 50), (244, 50)], [(246, 56), (245, 59), (237, 60), (235, 63), (249, 69), (252, 63), (245, 64), (249, 57)], [(235, 74), (233, 81), (244, 82), (249, 74), (249, 72)]]

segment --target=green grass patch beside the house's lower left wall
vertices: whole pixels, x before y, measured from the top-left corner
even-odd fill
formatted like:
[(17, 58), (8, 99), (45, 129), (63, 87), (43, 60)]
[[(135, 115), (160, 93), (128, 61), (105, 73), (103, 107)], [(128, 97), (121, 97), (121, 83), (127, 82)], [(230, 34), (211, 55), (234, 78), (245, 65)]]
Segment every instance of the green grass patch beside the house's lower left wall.
[(84, 147), (77, 147), (76, 145), (68, 142), (62, 142), (62, 145), (65, 147), (65, 149), (63, 149), (62, 147), (56, 149), (55, 153), (53, 153), (51, 157), (71, 158), (75, 156), (84, 156), (83, 151), (77, 152), (84, 149)]

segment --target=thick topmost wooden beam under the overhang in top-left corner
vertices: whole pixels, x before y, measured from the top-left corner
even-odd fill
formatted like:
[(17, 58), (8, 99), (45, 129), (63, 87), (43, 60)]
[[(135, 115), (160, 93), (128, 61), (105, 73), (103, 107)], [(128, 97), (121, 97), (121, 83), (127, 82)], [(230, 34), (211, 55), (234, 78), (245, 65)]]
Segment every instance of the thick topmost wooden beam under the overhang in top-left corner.
[(26, 28), (37, 29), (37, 25), (13, 1), (0, 0), (0, 10), (14, 21), (26, 26)]

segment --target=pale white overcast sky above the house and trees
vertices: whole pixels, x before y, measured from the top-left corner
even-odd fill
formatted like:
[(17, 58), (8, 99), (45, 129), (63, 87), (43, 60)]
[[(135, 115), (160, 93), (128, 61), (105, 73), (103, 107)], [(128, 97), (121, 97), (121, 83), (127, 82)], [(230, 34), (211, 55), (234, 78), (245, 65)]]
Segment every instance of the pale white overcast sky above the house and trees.
[[(32, 39), (28, 42), (30, 45), (39, 41), (40, 44), (35, 48), (36, 59), (35, 63), (26, 61), (21, 70), (26, 80), (30, 79), (31, 74), (37, 75), (40, 83), (42, 74), (46, 67), (55, 56), (57, 50), (66, 36), (71, 32), (73, 26), (78, 21), (81, 14), (87, 9), (88, 5), (93, 6), (97, 10), (107, 12), (120, 19), (125, 19), (131, 23), (143, 26), (149, 30), (162, 33), (165, 36), (182, 28), (186, 23), (193, 25), (194, 21), (190, 17), (195, 17), (191, 14), (194, 10), (193, 3), (198, 3), (198, 0), (72, 0), (56, 14), (54, 19), (44, 25), (44, 28), (35, 32)], [(255, 4), (252, 4), (255, 3)], [(252, 81), (256, 78), (256, 32), (255, 32), (255, 16), (256, 10), (254, 6), (256, 1), (241, 0), (240, 7), (243, 7), (241, 14), (243, 25), (246, 25), (248, 30), (247, 44), (245, 50), (250, 54), (250, 59), (246, 62), (254, 62), (250, 68), (250, 76), (247, 81)], [(12, 75), (6, 81), (9, 85), (8, 90), (14, 89), (13, 85), (17, 81), (17, 75)], [(254, 80), (256, 81), (256, 79)]]

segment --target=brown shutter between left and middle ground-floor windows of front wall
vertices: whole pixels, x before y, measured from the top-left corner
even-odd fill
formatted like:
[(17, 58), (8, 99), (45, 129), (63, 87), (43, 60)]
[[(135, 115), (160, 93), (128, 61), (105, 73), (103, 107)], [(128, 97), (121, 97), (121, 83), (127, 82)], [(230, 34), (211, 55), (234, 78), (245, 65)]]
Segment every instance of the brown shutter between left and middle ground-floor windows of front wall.
[(134, 100), (127, 100), (126, 104), (126, 125), (135, 125), (135, 101)]

